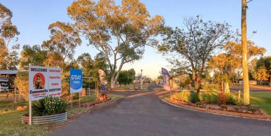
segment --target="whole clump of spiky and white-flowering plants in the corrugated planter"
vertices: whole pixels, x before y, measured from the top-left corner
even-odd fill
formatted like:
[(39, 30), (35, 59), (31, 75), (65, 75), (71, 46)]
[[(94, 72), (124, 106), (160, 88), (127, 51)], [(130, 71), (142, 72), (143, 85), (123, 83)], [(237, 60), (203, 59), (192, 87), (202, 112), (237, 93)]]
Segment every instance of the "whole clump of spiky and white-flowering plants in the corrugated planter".
[(67, 103), (59, 97), (45, 96), (32, 106), (33, 116), (46, 116), (64, 113), (67, 110)]

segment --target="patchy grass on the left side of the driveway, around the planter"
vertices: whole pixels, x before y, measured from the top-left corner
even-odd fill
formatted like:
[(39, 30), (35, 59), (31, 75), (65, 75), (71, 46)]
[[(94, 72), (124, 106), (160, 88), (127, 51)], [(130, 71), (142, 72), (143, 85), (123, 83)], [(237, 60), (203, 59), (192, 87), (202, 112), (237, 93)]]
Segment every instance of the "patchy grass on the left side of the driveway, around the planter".
[[(109, 97), (122, 97), (118, 95), (109, 95)], [(96, 99), (95, 94), (90, 96), (81, 97), (81, 103), (93, 101)], [(74, 100), (74, 103), (78, 103), (79, 100)], [(20, 101), (14, 103), (13, 101), (0, 101), (0, 135), (46, 135), (53, 132), (53, 127), (57, 125), (45, 124), (45, 125), (24, 125), (22, 124), (22, 115), (28, 113), (28, 109), (25, 111), (16, 111), (18, 106), (28, 105), (28, 101)], [(3, 111), (4, 109), (8, 111)], [(67, 109), (68, 117), (84, 114), (86, 108), (81, 107), (73, 108), (73, 113), (70, 113), (70, 108)], [(61, 125), (61, 124), (60, 124)]]

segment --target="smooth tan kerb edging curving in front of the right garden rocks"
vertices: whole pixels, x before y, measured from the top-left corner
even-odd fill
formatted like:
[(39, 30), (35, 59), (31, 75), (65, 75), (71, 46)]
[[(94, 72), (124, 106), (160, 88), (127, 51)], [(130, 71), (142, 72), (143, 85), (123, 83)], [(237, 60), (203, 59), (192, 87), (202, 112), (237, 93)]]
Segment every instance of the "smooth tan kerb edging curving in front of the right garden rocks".
[(200, 107), (193, 107), (193, 106), (177, 103), (175, 101), (169, 100), (168, 98), (164, 98), (161, 100), (162, 101), (165, 100), (166, 102), (178, 105), (183, 108), (192, 109), (192, 110), (198, 110), (198, 111), (209, 112), (209, 113), (217, 113), (217, 114), (222, 114), (222, 115), (226, 114), (226, 115), (231, 115), (231, 116), (271, 120), (271, 116), (268, 116), (268, 115), (255, 115), (255, 114), (237, 113), (237, 112), (230, 112), (230, 111), (223, 111), (223, 110), (212, 110), (212, 109), (206, 109), (206, 108), (200, 108)]

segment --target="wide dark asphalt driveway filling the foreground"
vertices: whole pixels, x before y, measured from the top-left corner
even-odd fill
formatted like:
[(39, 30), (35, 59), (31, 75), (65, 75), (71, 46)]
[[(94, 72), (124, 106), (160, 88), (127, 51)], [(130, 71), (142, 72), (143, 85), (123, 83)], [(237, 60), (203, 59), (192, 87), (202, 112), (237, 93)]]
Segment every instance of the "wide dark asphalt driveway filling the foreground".
[(85, 114), (51, 135), (270, 136), (271, 121), (183, 109), (148, 93)]

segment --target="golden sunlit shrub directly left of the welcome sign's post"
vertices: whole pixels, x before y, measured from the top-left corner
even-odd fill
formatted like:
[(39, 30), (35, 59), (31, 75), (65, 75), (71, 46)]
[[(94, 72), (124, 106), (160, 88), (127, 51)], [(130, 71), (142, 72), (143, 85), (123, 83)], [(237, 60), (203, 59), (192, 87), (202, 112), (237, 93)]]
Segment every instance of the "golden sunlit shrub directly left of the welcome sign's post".
[(14, 84), (19, 89), (20, 94), (26, 101), (28, 101), (28, 90), (29, 90), (29, 84), (28, 84), (28, 72), (18, 72), (16, 74), (16, 78), (14, 81)]

